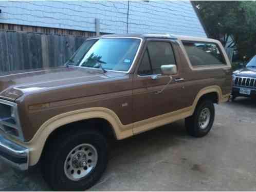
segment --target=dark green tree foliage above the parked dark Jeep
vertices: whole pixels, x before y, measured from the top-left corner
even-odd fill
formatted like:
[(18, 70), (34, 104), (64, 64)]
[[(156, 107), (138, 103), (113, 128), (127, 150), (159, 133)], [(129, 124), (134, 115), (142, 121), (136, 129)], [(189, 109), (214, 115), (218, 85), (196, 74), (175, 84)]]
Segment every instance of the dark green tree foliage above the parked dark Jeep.
[(256, 54), (256, 2), (252, 1), (194, 1), (209, 36), (224, 46), (228, 36), (242, 59)]

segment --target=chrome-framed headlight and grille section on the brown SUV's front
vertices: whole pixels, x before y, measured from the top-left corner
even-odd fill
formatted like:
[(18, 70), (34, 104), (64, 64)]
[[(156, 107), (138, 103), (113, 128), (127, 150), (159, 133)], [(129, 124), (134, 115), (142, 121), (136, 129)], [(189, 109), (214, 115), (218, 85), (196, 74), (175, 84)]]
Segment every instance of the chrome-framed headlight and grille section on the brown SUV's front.
[(24, 139), (16, 103), (0, 99), (0, 129), (20, 140)]

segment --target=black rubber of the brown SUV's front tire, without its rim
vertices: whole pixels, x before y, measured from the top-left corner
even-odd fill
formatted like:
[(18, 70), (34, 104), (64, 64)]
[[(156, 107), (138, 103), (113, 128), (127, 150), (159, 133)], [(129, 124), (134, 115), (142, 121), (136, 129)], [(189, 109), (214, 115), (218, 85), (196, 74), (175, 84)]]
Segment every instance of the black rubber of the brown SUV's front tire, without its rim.
[[(88, 175), (78, 181), (67, 177), (64, 163), (69, 153), (78, 145), (88, 143), (97, 150), (98, 161)], [(107, 141), (95, 130), (66, 132), (54, 139), (44, 151), (42, 172), (46, 182), (53, 190), (81, 191), (92, 187), (103, 174), (107, 165)]]

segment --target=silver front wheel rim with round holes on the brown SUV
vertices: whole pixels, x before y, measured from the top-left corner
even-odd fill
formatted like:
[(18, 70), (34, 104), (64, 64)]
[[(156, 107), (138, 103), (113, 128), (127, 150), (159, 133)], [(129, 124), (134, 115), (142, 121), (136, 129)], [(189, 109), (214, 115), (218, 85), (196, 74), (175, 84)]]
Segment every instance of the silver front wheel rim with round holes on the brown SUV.
[(96, 167), (98, 152), (91, 144), (80, 144), (73, 148), (64, 163), (65, 175), (72, 181), (87, 176)]

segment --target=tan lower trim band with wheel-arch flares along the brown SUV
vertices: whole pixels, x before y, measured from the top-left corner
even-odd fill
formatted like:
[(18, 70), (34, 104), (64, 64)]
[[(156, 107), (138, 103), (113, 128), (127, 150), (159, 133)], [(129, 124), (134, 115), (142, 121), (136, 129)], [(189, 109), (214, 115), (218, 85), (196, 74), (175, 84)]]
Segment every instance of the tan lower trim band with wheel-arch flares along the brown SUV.
[(127, 125), (123, 125), (120, 119), (118, 118), (118, 116), (112, 110), (109, 110), (106, 108), (89, 108), (89, 109), (71, 111), (71, 112), (57, 115), (49, 119), (48, 121), (46, 121), (40, 127), (38, 132), (36, 132), (36, 134), (31, 139), (31, 141), (27, 143), (23, 143), (19, 140), (16, 140), (10, 137), (9, 138), (11, 140), (14, 140), (16, 143), (29, 148), (29, 152), (30, 152), (29, 165), (32, 166), (39, 161), (41, 157), (41, 153), (43, 151), (44, 144), (48, 136), (54, 130), (58, 129), (62, 125), (65, 125), (71, 122), (76, 122), (79, 120), (90, 119), (90, 118), (104, 118), (105, 120), (107, 120), (109, 123), (112, 124), (113, 130), (116, 134), (116, 138), (118, 140), (121, 140), (127, 137), (131, 137), (135, 134), (139, 134), (139, 133), (154, 129), (155, 127), (159, 127), (161, 125), (168, 124), (173, 121), (191, 116), (194, 113), (194, 110), (199, 98), (204, 94), (211, 93), (211, 92), (217, 93), (219, 102), (227, 101), (230, 96), (230, 94), (222, 96), (221, 88), (218, 86), (207, 87), (200, 90), (200, 92), (197, 94), (193, 102), (193, 105), (188, 108), (163, 114), (163, 115), (159, 115), (156, 117), (152, 117), (149, 119), (145, 119), (145, 120), (127, 124)]

